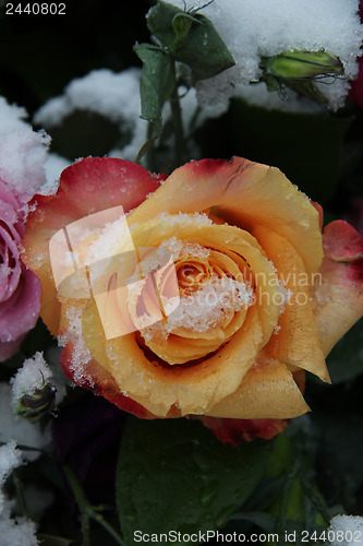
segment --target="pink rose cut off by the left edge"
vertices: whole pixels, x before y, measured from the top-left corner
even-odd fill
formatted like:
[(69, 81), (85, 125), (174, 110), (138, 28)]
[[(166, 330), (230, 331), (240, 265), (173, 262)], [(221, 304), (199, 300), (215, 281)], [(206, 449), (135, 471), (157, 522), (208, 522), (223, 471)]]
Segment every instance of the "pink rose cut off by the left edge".
[(16, 353), (39, 314), (39, 280), (20, 257), (23, 205), (0, 179), (0, 361)]

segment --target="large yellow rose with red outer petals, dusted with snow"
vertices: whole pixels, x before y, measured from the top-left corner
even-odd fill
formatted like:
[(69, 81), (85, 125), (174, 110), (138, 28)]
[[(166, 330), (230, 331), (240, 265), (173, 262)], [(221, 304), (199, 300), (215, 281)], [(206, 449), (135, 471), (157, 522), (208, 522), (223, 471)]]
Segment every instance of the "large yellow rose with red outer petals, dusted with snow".
[[(57, 195), (34, 198), (23, 259), (41, 281), (40, 314), (65, 345), (65, 373), (122, 410), (203, 416), (223, 441), (271, 437), (283, 419), (308, 411), (305, 371), (329, 381), (325, 356), (363, 312), (362, 238), (340, 221), (322, 235), (319, 206), (277, 168), (205, 159), (165, 178), (121, 159), (88, 158), (62, 173)], [(94, 294), (110, 306), (111, 327), (129, 324), (109, 336), (96, 297), (57, 293), (49, 242), (120, 205), (136, 260), (125, 259), (118, 218), (88, 230), (77, 247), (81, 261), (90, 250), (101, 260), (96, 250), (110, 240), (113, 254), (123, 254), (96, 270), (83, 262)], [(122, 299), (120, 286), (141, 265), (152, 271), (162, 247), (173, 268), (160, 282), (168, 286), (174, 274), (179, 305), (141, 324), (160, 301), (144, 289)]]

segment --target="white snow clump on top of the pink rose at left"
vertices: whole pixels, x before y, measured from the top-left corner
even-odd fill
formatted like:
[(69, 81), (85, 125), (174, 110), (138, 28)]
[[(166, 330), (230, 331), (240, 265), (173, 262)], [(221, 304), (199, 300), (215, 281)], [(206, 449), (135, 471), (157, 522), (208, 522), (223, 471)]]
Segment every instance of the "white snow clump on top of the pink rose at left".
[(50, 143), (50, 136), (34, 132), (25, 117), (24, 108), (0, 97), (0, 179), (24, 202), (46, 183), (44, 163)]

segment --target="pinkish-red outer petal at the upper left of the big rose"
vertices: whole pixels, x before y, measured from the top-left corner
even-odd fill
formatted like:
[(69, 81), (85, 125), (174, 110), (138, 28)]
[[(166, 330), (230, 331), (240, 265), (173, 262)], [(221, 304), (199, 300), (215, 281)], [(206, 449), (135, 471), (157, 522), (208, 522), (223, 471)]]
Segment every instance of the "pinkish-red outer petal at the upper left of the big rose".
[(23, 239), (23, 260), (41, 282), (41, 317), (53, 335), (60, 305), (49, 259), (49, 240), (68, 224), (89, 214), (122, 205), (124, 212), (142, 203), (165, 177), (140, 165), (110, 157), (93, 157), (63, 170), (57, 195), (35, 195)]

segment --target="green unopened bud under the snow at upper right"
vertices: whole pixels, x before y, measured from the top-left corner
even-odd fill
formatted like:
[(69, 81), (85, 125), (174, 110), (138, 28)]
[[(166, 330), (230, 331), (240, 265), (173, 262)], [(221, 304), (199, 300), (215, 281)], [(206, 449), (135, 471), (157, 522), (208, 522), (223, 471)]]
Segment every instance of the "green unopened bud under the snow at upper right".
[(283, 92), (290, 87), (297, 93), (311, 98), (317, 104), (328, 104), (328, 99), (318, 90), (316, 83), (326, 83), (327, 78), (344, 74), (341, 60), (324, 49), (319, 51), (283, 51), (274, 57), (263, 57), (262, 80), (268, 91)]

